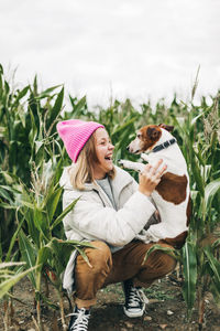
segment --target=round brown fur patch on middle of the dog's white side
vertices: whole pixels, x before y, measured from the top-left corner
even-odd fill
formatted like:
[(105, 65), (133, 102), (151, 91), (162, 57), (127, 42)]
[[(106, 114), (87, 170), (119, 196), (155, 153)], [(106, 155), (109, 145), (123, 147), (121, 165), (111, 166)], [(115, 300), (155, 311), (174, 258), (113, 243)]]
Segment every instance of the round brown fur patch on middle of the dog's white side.
[(165, 201), (179, 204), (186, 199), (187, 177), (177, 175), (172, 172), (163, 174), (156, 191)]

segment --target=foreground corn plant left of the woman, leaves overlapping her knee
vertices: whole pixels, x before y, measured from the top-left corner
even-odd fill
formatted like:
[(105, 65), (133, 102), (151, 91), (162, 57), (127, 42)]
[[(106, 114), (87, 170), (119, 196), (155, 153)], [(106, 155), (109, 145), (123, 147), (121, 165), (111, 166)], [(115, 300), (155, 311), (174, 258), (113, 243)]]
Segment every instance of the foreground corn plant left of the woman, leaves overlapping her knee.
[[(41, 301), (52, 308), (62, 308), (62, 320), (64, 329), (65, 319), (62, 297), (62, 273), (68, 261), (73, 249), (79, 250), (85, 256), (81, 247), (91, 246), (75, 241), (64, 241), (56, 237), (61, 235), (61, 223), (63, 217), (75, 206), (77, 201), (73, 201), (62, 213), (59, 203), (63, 188), (58, 185), (57, 172), (59, 172), (61, 161), (53, 169), (51, 161), (44, 162), (42, 172), (34, 170), (32, 173), (32, 188), (26, 188), (23, 183), (16, 185), (14, 190), (13, 204), (9, 207), (18, 210), (18, 233), (19, 248), (22, 260), (26, 263), (26, 268), (32, 268), (29, 278), (35, 289), (35, 300), (37, 310), (37, 324), (41, 323)], [(4, 203), (7, 207), (7, 203)], [(58, 229), (58, 231), (57, 231)], [(86, 256), (85, 256), (86, 258)], [(52, 285), (56, 288), (59, 297), (59, 308), (51, 302), (41, 290), (42, 276), (47, 275)]]

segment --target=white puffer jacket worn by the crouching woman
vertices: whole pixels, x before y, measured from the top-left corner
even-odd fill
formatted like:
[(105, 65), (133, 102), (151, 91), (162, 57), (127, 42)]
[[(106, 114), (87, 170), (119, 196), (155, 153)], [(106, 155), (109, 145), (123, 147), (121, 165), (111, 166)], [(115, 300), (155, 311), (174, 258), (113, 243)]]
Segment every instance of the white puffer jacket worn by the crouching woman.
[[(118, 167), (111, 180), (117, 210), (97, 183), (86, 184), (84, 191), (75, 190), (70, 184), (68, 168), (64, 170), (59, 184), (64, 186), (64, 209), (79, 197), (74, 210), (64, 218), (67, 239), (99, 239), (112, 246), (124, 246), (142, 231), (155, 212), (150, 199), (138, 191), (134, 179)], [(73, 254), (64, 274), (63, 286), (68, 292), (73, 290), (75, 258), (76, 254)]]

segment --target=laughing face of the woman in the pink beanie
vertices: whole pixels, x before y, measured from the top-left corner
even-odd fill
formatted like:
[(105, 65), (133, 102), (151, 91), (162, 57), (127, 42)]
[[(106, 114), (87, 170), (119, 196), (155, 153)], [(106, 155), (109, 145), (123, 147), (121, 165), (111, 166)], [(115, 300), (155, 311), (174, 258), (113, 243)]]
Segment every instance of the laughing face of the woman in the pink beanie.
[(98, 162), (94, 164), (95, 179), (102, 179), (113, 169), (112, 154), (114, 146), (111, 143), (106, 129), (99, 128), (95, 132), (96, 153)]

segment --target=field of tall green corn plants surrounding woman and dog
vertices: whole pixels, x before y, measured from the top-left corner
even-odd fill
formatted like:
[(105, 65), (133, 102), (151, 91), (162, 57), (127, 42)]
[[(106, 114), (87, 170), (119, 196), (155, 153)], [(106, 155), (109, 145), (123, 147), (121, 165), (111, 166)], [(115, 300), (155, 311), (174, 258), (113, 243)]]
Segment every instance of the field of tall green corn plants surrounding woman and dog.
[[(152, 108), (148, 102), (136, 110), (129, 99), (116, 99), (108, 108), (91, 111), (86, 97), (66, 96), (62, 85), (42, 92), (35, 77), (33, 84), (16, 88), (0, 66), (0, 300), (4, 330), (10, 330), (13, 287), (26, 275), (34, 290), (36, 330), (43, 330), (42, 305), (56, 310), (61, 328), (66, 330), (62, 273), (74, 248), (84, 254), (80, 243), (66, 241), (62, 224), (77, 202), (62, 211), (58, 180), (69, 159), (56, 124), (70, 118), (103, 124), (116, 146), (116, 163), (122, 158), (138, 160), (125, 147), (141, 126), (165, 122), (175, 127), (174, 136), (188, 164), (193, 215), (185, 246), (173, 254), (183, 273), (186, 311), (190, 318), (198, 302), (202, 329), (205, 293), (211, 292), (220, 303), (220, 95), (212, 96), (209, 104), (202, 97), (196, 106), (197, 83), (187, 104), (174, 97), (169, 106), (160, 100)], [(58, 302), (43, 292), (42, 281), (54, 288)]]

